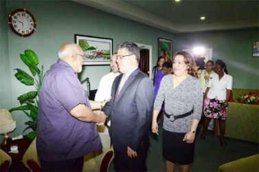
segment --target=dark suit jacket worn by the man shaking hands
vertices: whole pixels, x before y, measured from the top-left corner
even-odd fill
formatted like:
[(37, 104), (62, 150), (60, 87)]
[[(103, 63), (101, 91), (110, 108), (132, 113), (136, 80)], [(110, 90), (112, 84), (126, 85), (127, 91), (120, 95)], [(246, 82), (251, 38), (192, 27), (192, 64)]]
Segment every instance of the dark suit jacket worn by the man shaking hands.
[[(122, 74), (113, 81), (111, 100), (102, 109), (111, 118), (111, 141), (116, 151), (127, 147), (137, 151), (148, 142), (148, 129), (153, 115), (153, 83), (139, 68), (128, 76), (117, 98)], [(145, 143), (146, 144), (146, 143)]]

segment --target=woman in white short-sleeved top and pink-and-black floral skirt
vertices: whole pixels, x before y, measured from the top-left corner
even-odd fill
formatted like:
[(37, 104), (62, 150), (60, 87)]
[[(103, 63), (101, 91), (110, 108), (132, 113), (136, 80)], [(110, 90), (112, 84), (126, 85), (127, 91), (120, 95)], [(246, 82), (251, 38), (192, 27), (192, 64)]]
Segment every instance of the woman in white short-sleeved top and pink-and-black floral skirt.
[(230, 92), (232, 90), (232, 76), (228, 75), (227, 67), (222, 60), (217, 60), (215, 65), (216, 74), (210, 76), (209, 83), (204, 96), (203, 112), (205, 119), (203, 122), (203, 133), (201, 139), (204, 139), (207, 133), (207, 126), (212, 118), (218, 119), (220, 130), (220, 141), (223, 146), (226, 145), (225, 120), (227, 116), (227, 106)]

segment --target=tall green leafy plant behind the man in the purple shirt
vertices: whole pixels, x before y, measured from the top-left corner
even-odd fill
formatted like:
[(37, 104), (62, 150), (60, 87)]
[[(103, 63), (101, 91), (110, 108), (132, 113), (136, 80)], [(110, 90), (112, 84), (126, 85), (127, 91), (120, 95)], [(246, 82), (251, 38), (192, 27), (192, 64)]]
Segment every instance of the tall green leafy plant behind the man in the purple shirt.
[[(26, 116), (30, 118), (29, 121), (25, 122), (27, 129), (32, 129), (30, 133), (27, 133), (27, 138), (34, 139), (36, 137), (37, 122), (38, 122), (38, 100), (41, 92), (41, 85), (45, 74), (43, 74), (43, 65), (41, 69), (38, 69), (38, 56), (32, 50), (25, 50), (24, 54), (20, 54), (21, 60), (27, 67), (29, 67), (32, 75), (22, 69), (16, 68), (16, 74), (14, 76), (24, 85), (34, 85), (35, 91), (27, 92), (17, 98), (21, 106), (14, 107), (9, 111), (23, 111)], [(24, 130), (24, 131), (25, 131)], [(24, 132), (23, 131), (23, 132)]]

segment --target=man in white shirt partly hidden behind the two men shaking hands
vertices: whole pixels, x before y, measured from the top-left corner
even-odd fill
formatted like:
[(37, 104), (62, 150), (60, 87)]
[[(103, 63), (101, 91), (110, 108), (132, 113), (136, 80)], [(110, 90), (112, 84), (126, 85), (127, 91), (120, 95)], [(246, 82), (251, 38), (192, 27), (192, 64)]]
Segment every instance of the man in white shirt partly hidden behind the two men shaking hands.
[[(98, 90), (95, 94), (95, 101), (105, 101), (111, 98), (111, 86), (113, 85), (113, 80), (116, 76), (120, 75), (119, 68), (117, 67), (117, 53), (111, 56), (110, 66), (111, 72), (102, 76)], [(108, 120), (107, 125), (110, 126), (110, 121)]]

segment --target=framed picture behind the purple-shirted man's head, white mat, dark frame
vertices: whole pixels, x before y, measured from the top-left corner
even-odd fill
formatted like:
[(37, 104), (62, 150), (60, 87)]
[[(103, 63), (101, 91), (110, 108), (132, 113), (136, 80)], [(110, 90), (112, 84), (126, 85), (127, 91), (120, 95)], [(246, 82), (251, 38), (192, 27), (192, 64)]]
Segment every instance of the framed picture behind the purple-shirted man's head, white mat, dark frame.
[(110, 65), (113, 39), (75, 34), (75, 43), (82, 48), (86, 56), (83, 65)]

